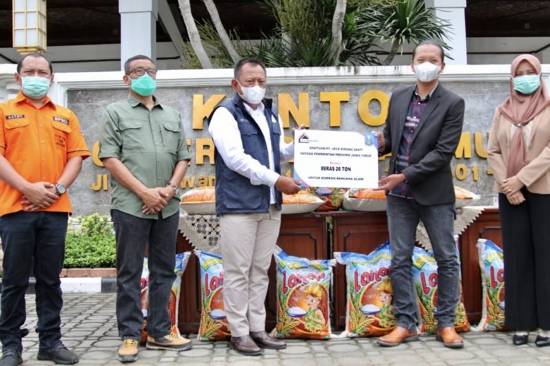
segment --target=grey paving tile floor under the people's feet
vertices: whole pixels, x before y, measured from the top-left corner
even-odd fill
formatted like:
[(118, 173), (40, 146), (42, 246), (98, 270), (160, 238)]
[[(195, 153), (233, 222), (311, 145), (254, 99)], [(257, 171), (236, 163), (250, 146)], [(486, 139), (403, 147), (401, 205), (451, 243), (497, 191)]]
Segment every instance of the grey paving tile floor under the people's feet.
[[(34, 295), (26, 295), (26, 328), (32, 330), (23, 339), (23, 365), (53, 365), (37, 361), (38, 334)], [(62, 313), (63, 341), (80, 355), (78, 365), (122, 365), (116, 359), (120, 343), (116, 328), (115, 294), (66, 294)], [(528, 345), (511, 344), (509, 332), (469, 332), (464, 334), (465, 347), (449, 350), (434, 336), (397, 347), (380, 347), (374, 339), (331, 339), (330, 341), (290, 340), (285, 350), (264, 350), (261, 356), (241, 356), (228, 347), (228, 342), (200, 342), (195, 334), (191, 350), (184, 352), (140, 349), (142, 365), (550, 365), (550, 347), (536, 347), (535, 334)]]

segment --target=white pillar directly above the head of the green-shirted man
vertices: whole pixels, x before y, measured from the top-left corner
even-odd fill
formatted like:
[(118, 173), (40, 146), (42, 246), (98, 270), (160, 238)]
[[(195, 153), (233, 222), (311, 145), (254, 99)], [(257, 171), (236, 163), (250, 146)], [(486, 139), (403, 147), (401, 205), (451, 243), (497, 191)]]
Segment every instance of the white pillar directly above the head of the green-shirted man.
[(120, 69), (131, 56), (157, 58), (157, 0), (118, 0)]

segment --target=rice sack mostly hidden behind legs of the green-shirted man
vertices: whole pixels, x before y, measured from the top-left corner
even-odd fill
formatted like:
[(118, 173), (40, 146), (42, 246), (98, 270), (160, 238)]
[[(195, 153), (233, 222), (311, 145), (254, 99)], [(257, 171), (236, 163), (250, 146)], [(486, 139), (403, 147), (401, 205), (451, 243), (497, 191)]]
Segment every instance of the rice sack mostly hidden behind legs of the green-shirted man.
[[(170, 315), (170, 323), (172, 323), (172, 332), (179, 335), (179, 329), (177, 329), (177, 313), (179, 309), (179, 289), (181, 288), (181, 275), (184, 274), (187, 262), (191, 252), (177, 253), (175, 257), (174, 272), (176, 273), (176, 279), (172, 283), (170, 289), (170, 298), (168, 299), (168, 314)], [(141, 306), (143, 313), (143, 329), (142, 338), (140, 343), (144, 345), (147, 343), (147, 312), (149, 307), (149, 268), (148, 258), (143, 259), (143, 269), (141, 278)]]

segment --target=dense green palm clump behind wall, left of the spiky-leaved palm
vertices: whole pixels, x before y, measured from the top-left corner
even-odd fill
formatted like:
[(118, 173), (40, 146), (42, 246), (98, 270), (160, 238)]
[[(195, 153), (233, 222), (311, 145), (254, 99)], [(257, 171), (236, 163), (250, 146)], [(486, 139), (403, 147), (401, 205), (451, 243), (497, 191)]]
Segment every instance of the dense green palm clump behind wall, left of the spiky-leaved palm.
[(379, 64), (357, 16), (373, 2), (395, 0), (263, 0), (278, 26), (251, 53), (270, 67)]

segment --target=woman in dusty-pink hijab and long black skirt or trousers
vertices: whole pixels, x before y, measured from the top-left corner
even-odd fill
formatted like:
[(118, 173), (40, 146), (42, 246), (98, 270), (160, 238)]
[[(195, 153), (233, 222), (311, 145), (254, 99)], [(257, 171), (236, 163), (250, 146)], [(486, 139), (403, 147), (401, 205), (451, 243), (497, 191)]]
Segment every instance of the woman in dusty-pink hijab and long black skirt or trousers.
[(505, 325), (512, 343), (550, 345), (550, 98), (532, 55), (511, 63), (510, 95), (495, 111), (487, 159), (504, 244)]

